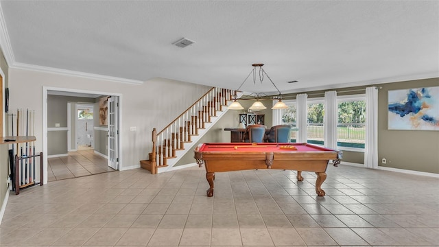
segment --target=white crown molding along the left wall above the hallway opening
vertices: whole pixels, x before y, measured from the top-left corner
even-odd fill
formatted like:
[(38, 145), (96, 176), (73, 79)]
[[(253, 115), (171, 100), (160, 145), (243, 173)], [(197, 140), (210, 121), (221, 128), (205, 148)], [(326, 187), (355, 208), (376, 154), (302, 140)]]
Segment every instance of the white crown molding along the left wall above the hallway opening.
[(38, 71), (38, 72), (46, 72), (46, 73), (55, 73), (58, 75), (69, 75), (69, 76), (75, 76), (75, 77), (81, 77), (81, 78), (88, 78), (88, 79), (94, 79), (94, 80), (106, 80), (109, 82), (119, 82), (119, 83), (125, 83), (125, 84), (143, 84), (143, 81), (139, 80), (130, 80), (126, 78), (117, 78), (107, 75), (97, 75), (93, 73), (85, 73), (85, 72), (79, 72), (79, 71), (71, 71), (67, 69), (56, 69), (52, 67), (44, 67), (44, 66), (38, 66), (33, 64), (25, 64), (21, 62), (15, 62), (12, 66), (10, 66), (11, 69), (26, 69), (30, 71)]

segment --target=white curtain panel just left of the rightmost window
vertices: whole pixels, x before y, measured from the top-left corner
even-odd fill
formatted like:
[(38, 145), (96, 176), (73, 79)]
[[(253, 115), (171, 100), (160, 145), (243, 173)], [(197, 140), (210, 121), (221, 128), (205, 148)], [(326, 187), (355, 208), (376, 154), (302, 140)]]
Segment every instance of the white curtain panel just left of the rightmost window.
[(337, 148), (337, 91), (324, 93), (324, 146)]

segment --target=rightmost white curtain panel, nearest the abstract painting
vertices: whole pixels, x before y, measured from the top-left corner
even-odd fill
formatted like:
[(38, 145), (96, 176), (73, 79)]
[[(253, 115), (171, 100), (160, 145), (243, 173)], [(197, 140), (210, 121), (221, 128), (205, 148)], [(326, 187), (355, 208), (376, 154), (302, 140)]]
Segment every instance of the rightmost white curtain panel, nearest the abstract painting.
[(366, 88), (366, 140), (364, 167), (378, 168), (378, 89)]

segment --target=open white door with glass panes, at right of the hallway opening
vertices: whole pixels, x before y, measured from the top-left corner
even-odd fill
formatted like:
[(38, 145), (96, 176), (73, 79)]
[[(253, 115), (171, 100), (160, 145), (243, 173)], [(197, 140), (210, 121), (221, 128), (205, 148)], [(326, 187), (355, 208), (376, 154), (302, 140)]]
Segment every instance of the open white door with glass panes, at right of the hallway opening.
[(119, 97), (108, 97), (108, 166), (119, 169)]

